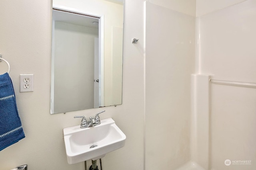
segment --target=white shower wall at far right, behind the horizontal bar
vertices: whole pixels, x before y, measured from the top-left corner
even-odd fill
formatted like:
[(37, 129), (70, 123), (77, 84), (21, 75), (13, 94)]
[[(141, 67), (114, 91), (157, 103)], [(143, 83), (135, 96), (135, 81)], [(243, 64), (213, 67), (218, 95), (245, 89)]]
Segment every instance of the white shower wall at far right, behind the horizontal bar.
[[(222, 9), (214, 11), (213, 2), (198, 2), (197, 12), (207, 13), (198, 18), (199, 71), (212, 79), (256, 83), (255, 0), (229, 5), (231, 1), (225, 0), (220, 3)], [(256, 89), (212, 83), (210, 94), (210, 168), (256, 169)], [(251, 160), (252, 164), (227, 167), (226, 159)]]

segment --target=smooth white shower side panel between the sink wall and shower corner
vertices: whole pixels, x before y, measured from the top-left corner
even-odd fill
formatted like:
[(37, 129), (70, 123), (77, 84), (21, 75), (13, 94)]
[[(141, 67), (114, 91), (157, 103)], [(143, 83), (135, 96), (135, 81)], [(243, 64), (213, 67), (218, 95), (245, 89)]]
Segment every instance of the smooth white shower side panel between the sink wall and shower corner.
[(194, 28), (194, 16), (146, 3), (146, 170), (174, 170), (190, 160)]

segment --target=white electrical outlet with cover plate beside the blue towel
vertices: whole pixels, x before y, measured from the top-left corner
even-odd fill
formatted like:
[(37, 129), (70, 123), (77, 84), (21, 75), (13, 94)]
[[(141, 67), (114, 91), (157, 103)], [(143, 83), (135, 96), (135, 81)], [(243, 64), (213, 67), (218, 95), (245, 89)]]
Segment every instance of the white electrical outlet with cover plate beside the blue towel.
[(20, 92), (34, 91), (34, 74), (20, 74)]

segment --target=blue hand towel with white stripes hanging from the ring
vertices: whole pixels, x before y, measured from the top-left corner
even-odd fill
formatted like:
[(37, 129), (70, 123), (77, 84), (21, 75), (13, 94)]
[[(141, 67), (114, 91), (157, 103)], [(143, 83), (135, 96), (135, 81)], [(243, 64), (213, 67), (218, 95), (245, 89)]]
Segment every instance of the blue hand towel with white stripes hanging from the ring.
[(24, 137), (12, 80), (6, 72), (0, 75), (0, 150)]

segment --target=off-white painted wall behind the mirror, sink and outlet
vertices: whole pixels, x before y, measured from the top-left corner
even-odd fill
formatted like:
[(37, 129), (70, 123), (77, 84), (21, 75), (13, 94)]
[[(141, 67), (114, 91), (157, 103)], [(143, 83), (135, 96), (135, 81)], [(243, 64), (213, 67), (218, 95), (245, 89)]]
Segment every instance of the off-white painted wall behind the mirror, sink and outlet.
[[(95, 116), (102, 108), (50, 115), (52, 2), (1, 0), (0, 6), (0, 53), (12, 67), (10, 76), (26, 135), (0, 151), (0, 169), (28, 164), (30, 170), (83, 170), (83, 162), (67, 163), (62, 129), (79, 125), (80, 120), (74, 119), (74, 115)], [(134, 36), (143, 39), (142, 9), (143, 0), (126, 2), (123, 104), (104, 107), (106, 112), (100, 117), (112, 117), (127, 139), (124, 148), (102, 158), (105, 170), (143, 169), (144, 44), (143, 41), (136, 46), (131, 43)], [(0, 64), (4, 73), (6, 67)], [(34, 92), (20, 93), (19, 74), (28, 73), (34, 74)]]

